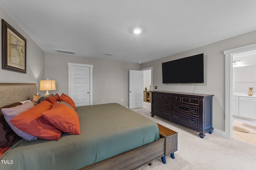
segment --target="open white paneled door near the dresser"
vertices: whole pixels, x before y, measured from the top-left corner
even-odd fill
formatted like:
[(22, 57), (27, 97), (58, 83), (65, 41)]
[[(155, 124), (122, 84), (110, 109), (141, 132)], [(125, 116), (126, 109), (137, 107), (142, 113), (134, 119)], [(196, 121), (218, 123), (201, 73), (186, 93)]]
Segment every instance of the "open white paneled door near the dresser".
[(129, 109), (142, 107), (143, 71), (130, 70), (129, 84)]

